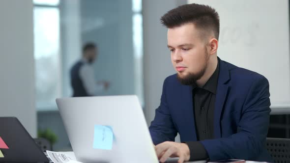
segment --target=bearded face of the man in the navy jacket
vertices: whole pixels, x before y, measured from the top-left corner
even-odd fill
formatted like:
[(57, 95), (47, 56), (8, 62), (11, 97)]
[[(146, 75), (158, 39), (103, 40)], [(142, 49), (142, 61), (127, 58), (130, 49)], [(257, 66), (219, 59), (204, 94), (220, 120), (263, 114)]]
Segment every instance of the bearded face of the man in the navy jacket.
[(199, 32), (192, 23), (168, 29), (171, 61), (183, 84), (189, 85), (199, 80), (207, 67), (209, 54)]

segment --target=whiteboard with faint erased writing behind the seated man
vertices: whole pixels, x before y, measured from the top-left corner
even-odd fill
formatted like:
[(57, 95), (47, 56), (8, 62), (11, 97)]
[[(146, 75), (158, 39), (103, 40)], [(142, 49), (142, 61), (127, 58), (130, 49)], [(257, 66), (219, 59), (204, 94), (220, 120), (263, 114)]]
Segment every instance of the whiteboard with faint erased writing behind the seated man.
[(265, 76), (271, 108), (290, 108), (288, 0), (188, 0), (220, 15), (217, 55)]

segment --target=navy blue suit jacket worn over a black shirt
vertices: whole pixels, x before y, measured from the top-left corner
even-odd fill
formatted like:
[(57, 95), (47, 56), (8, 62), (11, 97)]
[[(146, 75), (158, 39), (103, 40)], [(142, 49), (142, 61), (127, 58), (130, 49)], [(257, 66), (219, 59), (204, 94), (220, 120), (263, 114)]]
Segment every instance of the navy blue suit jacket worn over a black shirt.
[[(219, 59), (219, 58), (218, 58)], [(214, 139), (202, 140), (211, 161), (244, 159), (273, 162), (265, 147), (270, 107), (265, 77), (220, 60), (214, 108)], [(182, 85), (176, 74), (165, 79), (160, 106), (149, 131), (154, 144), (197, 141), (192, 86)]]

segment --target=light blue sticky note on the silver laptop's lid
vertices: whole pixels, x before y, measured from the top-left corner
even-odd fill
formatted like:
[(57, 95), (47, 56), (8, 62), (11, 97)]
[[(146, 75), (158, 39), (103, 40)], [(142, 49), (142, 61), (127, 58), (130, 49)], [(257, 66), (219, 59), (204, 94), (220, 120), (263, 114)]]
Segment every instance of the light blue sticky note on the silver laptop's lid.
[(95, 125), (93, 148), (111, 150), (113, 138), (114, 133), (111, 126)]

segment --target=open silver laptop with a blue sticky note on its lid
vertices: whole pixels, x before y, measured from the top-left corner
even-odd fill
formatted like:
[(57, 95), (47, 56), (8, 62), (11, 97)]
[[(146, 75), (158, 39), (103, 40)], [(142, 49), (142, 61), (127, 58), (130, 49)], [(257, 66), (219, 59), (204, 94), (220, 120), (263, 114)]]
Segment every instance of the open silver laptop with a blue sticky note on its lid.
[(137, 96), (56, 101), (78, 161), (159, 163)]

